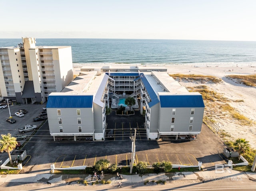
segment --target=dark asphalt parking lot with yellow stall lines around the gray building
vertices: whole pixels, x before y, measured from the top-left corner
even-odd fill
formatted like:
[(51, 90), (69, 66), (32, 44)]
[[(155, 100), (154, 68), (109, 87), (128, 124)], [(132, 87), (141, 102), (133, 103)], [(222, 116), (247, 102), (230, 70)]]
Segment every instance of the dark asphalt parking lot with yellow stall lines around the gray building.
[[(28, 110), (24, 117), (18, 118), (16, 123), (10, 124), (5, 121), (9, 116), (8, 108), (0, 110), (1, 134), (8, 132), (18, 134), (18, 128), (25, 124), (39, 125), (41, 122), (33, 122), (32, 118), (42, 112), (42, 105), (13, 105), (10, 106), (11, 114), (20, 108)], [(130, 136), (136, 134), (136, 155), (135, 161), (146, 161), (149, 165), (158, 161), (170, 161), (172, 164), (197, 165), (202, 161), (205, 168), (214, 164), (223, 164), (225, 161), (220, 157), (224, 145), (218, 137), (204, 124), (202, 132), (197, 140), (146, 140), (143, 130), (144, 119), (138, 116), (107, 116), (108, 129), (114, 130), (114, 138), (105, 141), (59, 141), (54, 142), (50, 136), (48, 122), (32, 132), (24, 134), (32, 136), (24, 144), (31, 159), (26, 163), (22, 172), (39, 173), (50, 169), (50, 164), (55, 163), (56, 167), (72, 167), (78, 165), (93, 166), (99, 159), (108, 159), (110, 163), (120, 166), (130, 165), (132, 156), (132, 141)], [(0, 159), (5, 160), (7, 154), (0, 154)]]

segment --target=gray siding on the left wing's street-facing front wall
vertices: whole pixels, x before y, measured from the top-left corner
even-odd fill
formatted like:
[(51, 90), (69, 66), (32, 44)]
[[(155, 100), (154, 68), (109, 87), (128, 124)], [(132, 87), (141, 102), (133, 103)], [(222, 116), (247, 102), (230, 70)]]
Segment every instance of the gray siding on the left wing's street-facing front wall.
[[(58, 116), (57, 109), (61, 110), (61, 116)], [(76, 109), (80, 109), (80, 116), (77, 116)], [(63, 134), (80, 133), (78, 126), (82, 126), (81, 133), (94, 131), (92, 108), (47, 108), (47, 116), (50, 133), (60, 133), (59, 126), (63, 127)], [(62, 119), (62, 124), (58, 124), (58, 118)], [(77, 118), (81, 118), (82, 124), (78, 124)]]

